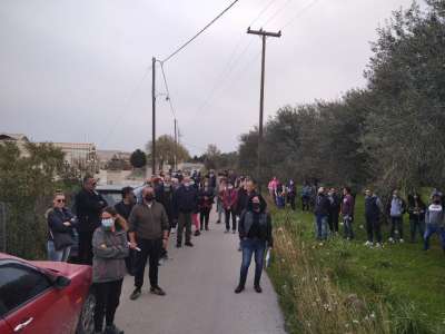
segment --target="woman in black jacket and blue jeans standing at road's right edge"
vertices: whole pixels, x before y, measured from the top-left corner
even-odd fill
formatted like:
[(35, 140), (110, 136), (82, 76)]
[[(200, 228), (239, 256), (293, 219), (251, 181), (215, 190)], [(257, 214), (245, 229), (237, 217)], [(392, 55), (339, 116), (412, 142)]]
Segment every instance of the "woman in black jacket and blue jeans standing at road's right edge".
[(250, 197), (247, 209), (239, 219), (239, 238), (241, 239), (243, 262), (239, 274), (239, 283), (235, 289), (239, 294), (245, 289), (247, 273), (251, 256), (255, 254), (254, 288), (261, 293), (260, 278), (263, 273), (266, 247), (274, 246), (270, 215), (266, 213), (266, 202), (260, 195)]

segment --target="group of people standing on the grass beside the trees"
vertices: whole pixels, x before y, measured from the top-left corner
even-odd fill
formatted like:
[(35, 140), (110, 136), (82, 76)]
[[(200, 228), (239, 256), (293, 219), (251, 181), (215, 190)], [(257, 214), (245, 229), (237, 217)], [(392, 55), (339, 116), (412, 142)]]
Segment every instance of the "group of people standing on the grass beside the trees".
[[(278, 208), (286, 203), (295, 210), (297, 191), (290, 179), (281, 184), (276, 177), (268, 184), (270, 198)], [(425, 204), (418, 193), (412, 193), (407, 200), (402, 198), (400, 191), (394, 189), (392, 197), (385, 204), (372, 189), (366, 189), (364, 203), (364, 218), (367, 234), (366, 246), (382, 247), (382, 228), (385, 222), (389, 223), (389, 243), (404, 243), (404, 217), (408, 215), (409, 242), (416, 243), (417, 236), (423, 240), (425, 250), (429, 249), (432, 235), (437, 234), (445, 253), (445, 208), (444, 195), (434, 190), (429, 204)], [(355, 222), (355, 196), (349, 187), (344, 187), (342, 194), (334, 187), (317, 187), (317, 184), (306, 183), (301, 188), (301, 209), (314, 212), (315, 235), (319, 240), (339, 233), (338, 225), (342, 217), (343, 236), (353, 239)]]

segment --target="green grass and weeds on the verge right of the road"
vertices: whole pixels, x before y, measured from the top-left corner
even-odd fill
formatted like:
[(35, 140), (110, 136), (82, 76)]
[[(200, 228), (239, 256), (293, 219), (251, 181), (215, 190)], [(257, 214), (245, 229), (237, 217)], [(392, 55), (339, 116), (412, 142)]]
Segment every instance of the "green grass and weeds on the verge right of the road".
[(421, 242), (366, 247), (357, 212), (356, 240), (319, 243), (312, 214), (273, 215), (269, 275), (288, 333), (445, 333), (445, 256), (437, 240), (428, 253)]

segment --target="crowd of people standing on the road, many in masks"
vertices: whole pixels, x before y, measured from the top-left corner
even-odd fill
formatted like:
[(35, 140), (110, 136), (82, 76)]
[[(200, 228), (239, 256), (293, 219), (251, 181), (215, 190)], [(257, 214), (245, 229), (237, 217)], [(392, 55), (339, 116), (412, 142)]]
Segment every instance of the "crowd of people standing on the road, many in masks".
[(273, 234), (266, 200), (254, 179), (237, 176), (234, 170), (218, 175), (210, 170), (205, 176), (200, 171), (160, 173), (136, 189), (123, 187), (122, 199), (115, 206), (108, 206), (96, 186), (93, 177), (85, 177), (75, 197), (76, 215), (66, 206), (65, 194), (57, 193), (47, 218), (49, 259), (68, 261), (76, 230), (78, 261), (92, 266), (97, 333), (123, 333), (115, 325), (123, 277), (134, 276), (130, 299), (139, 298), (147, 262), (150, 293), (166, 295), (158, 282), (158, 271), (160, 259), (168, 258), (169, 240), (176, 234), (177, 248), (194, 247), (192, 236), (199, 237), (211, 228), (214, 206), (218, 217), (215, 224), (222, 223), (224, 213), (224, 232), (239, 236), (243, 257), (235, 293), (245, 288), (253, 256), (254, 287), (261, 293), (264, 257), (273, 246)]

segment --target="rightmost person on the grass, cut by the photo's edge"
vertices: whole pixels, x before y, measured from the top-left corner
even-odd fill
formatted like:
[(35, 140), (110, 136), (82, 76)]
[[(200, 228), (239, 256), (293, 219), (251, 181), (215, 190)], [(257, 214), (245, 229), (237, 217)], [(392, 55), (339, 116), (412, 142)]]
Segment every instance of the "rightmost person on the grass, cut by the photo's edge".
[(428, 206), (425, 213), (425, 236), (424, 236), (424, 249), (429, 249), (429, 238), (433, 234), (437, 234), (441, 238), (442, 248), (445, 254), (445, 210), (442, 204), (442, 194), (438, 191), (433, 193), (432, 204)]

